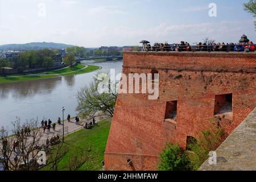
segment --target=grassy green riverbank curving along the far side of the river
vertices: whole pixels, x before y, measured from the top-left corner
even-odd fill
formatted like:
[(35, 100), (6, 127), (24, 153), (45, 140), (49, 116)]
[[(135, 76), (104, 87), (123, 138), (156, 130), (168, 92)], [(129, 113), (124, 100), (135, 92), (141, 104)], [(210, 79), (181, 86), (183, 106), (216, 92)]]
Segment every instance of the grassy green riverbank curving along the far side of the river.
[(101, 67), (98, 67), (95, 65), (77, 64), (72, 68), (67, 67), (67, 68), (57, 69), (55, 71), (49, 71), (49, 72), (38, 72), (38, 73), (31, 73), (29, 75), (13, 75), (13, 76), (7, 76), (7, 77), (0, 76), (0, 84), (6, 83), (6, 82), (41, 80), (41, 79), (55, 78), (60, 76), (80, 75), (84, 73), (97, 71), (98, 69), (101, 69)]

